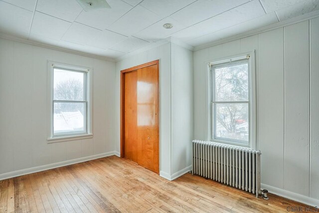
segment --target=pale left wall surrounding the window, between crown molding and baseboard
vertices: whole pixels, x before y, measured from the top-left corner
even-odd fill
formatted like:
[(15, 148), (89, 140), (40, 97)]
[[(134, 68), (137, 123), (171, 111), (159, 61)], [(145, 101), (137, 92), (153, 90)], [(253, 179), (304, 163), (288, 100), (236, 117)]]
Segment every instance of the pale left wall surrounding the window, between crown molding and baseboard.
[[(93, 138), (47, 143), (48, 60), (93, 67)], [(0, 38), (0, 177), (114, 151), (114, 87), (114, 62)]]

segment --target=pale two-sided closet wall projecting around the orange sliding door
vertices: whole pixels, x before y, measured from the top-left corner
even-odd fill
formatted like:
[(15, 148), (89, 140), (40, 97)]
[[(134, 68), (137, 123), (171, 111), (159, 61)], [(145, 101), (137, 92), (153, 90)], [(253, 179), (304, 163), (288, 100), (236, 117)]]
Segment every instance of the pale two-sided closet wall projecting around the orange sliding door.
[(160, 176), (172, 180), (191, 166), (192, 51), (165, 43), (116, 63), (117, 151), (120, 151), (121, 70), (160, 59)]

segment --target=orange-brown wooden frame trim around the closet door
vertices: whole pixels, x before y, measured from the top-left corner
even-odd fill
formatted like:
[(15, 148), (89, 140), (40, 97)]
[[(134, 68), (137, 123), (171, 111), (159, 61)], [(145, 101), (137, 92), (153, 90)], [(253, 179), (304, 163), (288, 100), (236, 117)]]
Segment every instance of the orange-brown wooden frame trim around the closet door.
[[(157, 64), (158, 65), (158, 69), (157, 69), (157, 72), (158, 72), (158, 85), (159, 85), (159, 88), (158, 88), (158, 116), (159, 116), (159, 119), (158, 119), (158, 135), (159, 135), (159, 147), (158, 147), (158, 150), (159, 150), (159, 164), (160, 164), (160, 60), (155, 60), (155, 61), (151, 61), (151, 62), (148, 62), (148, 63), (144, 63), (144, 64), (141, 64), (141, 65), (138, 65), (138, 66), (134, 66), (134, 67), (131, 67), (131, 68), (128, 68), (128, 69), (124, 69), (124, 70), (121, 70), (121, 92), (120, 92), (120, 140), (121, 140), (121, 147), (120, 147), (120, 150), (121, 150), (121, 158), (124, 158), (124, 88), (125, 88), (125, 73), (127, 72), (132, 72), (132, 71), (136, 71), (137, 69), (141, 69), (141, 68), (144, 68), (144, 67), (148, 67), (148, 66), (152, 66), (152, 65), (155, 65)], [(160, 165), (159, 165), (159, 168), (160, 168)]]

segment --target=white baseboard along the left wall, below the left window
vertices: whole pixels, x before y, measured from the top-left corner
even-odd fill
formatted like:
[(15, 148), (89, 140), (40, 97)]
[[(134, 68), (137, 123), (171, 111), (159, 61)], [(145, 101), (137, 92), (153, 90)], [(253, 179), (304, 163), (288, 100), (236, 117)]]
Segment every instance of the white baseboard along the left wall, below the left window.
[(48, 165), (43, 165), (43, 166), (38, 166), (38, 167), (32, 167), (32, 168), (17, 170), (17, 171), (8, 172), (8, 173), (3, 173), (3, 174), (0, 174), (0, 181), (5, 180), (5, 179), (9, 179), (9, 178), (15, 178), (15, 177), (22, 176), (22, 175), (28, 175), (31, 173), (36, 173), (36, 172), (41, 172), (41, 171), (45, 171), (45, 170), (64, 167), (64, 166), (68, 166), (68, 165), (72, 165), (72, 164), (78, 164), (78, 163), (85, 162), (85, 161), (91, 161), (91, 160), (98, 159), (98, 158), (104, 158), (104, 157), (108, 157), (108, 156), (112, 156), (112, 155), (116, 155), (116, 156), (120, 157), (120, 153), (117, 151), (106, 152), (106, 153), (102, 153), (102, 154), (98, 154), (98, 155), (92, 155), (92, 156), (88, 156), (88, 157), (77, 158), (77, 159), (72, 159), (72, 160), (68, 160), (68, 161), (62, 161), (62, 162), (58, 162), (58, 163), (53, 163), (53, 164), (48, 164)]

